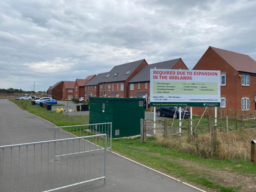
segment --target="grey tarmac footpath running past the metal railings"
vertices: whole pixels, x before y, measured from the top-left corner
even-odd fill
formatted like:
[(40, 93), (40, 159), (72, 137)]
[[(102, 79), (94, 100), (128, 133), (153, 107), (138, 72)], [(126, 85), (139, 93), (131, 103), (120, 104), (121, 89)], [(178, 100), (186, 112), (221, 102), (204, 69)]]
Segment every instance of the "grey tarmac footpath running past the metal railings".
[[(0, 99), (0, 146), (53, 140), (53, 128), (53, 124), (22, 110), (7, 99)], [(70, 138), (72, 135), (63, 131), (63, 137)], [(100, 180), (60, 191), (199, 192), (202, 190), (108, 152), (106, 185)]]

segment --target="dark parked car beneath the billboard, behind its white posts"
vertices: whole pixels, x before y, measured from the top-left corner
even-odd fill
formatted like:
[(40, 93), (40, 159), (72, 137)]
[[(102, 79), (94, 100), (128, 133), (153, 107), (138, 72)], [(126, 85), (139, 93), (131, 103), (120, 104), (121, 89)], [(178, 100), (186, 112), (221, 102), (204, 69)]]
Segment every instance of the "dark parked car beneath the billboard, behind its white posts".
[[(181, 107), (181, 117), (190, 117), (190, 111), (186, 108)], [(177, 108), (176, 113), (175, 113), (176, 107), (157, 107), (157, 116), (162, 116), (162, 115), (169, 115), (171, 117), (174, 117), (177, 119), (179, 117), (179, 108)]]

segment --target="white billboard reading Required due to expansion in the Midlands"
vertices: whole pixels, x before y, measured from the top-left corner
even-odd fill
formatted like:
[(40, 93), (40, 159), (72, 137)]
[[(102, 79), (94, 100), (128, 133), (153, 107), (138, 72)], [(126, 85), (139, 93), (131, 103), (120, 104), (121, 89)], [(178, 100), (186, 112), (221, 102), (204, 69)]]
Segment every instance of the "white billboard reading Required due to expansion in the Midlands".
[(150, 106), (220, 106), (220, 71), (150, 69)]

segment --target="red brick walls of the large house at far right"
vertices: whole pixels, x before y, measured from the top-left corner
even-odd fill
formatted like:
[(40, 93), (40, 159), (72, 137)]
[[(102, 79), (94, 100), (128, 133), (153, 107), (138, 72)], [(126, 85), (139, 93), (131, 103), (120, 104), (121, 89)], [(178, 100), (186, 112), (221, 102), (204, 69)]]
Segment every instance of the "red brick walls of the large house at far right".
[[(241, 99), (248, 97), (250, 98), (250, 109), (255, 109), (254, 93), (256, 91), (256, 76), (250, 75), (250, 86), (242, 86), (242, 78), (238, 77), (239, 72), (212, 49), (208, 49), (205, 52), (193, 69), (220, 70), (221, 74), (226, 74), (226, 85), (221, 86), (221, 97), (226, 98), (226, 108), (241, 109)], [(193, 114), (199, 113), (202, 115), (203, 107), (193, 107), (192, 112)]]

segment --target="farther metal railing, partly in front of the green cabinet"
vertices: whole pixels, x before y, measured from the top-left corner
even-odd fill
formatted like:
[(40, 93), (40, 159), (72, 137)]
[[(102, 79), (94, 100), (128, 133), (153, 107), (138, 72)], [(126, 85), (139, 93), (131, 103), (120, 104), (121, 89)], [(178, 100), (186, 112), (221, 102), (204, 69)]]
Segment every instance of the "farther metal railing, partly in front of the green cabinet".
[[(112, 123), (95, 123), (87, 125), (73, 125), (73, 126), (62, 126), (54, 127), (54, 139), (63, 138), (62, 131), (66, 131), (76, 137), (84, 137), (95, 134), (107, 134), (107, 149), (112, 152)], [(83, 153), (81, 151), (80, 153)]]

